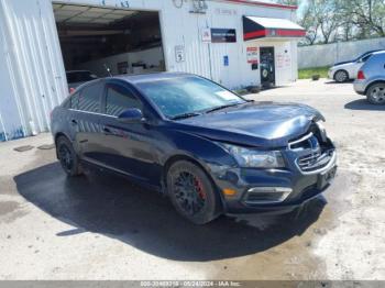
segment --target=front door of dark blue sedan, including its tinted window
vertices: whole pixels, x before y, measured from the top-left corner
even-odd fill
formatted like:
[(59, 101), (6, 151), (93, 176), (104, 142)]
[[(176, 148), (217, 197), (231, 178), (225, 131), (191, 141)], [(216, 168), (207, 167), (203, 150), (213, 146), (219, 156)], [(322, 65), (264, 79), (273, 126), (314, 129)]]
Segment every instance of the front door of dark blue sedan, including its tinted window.
[(122, 84), (108, 82), (101, 117), (101, 158), (108, 168), (127, 174), (138, 180), (155, 184), (153, 130), (146, 123), (122, 123), (118, 120), (127, 109), (143, 110), (143, 103), (134, 92)]

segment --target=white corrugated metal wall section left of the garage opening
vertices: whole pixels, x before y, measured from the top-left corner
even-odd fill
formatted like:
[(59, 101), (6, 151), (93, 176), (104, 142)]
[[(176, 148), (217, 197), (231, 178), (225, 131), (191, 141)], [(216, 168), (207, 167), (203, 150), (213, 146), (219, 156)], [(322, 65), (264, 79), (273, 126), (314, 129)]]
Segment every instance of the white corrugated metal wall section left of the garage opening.
[(0, 0), (0, 140), (48, 131), (66, 95), (51, 2)]

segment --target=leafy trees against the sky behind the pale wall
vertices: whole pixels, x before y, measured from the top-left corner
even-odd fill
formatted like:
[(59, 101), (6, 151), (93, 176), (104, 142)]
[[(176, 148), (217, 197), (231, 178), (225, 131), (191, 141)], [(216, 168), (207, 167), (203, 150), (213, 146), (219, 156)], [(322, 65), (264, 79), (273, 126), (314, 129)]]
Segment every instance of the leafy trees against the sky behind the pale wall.
[(307, 30), (301, 44), (385, 36), (385, 0), (277, 0), (300, 5), (297, 22)]

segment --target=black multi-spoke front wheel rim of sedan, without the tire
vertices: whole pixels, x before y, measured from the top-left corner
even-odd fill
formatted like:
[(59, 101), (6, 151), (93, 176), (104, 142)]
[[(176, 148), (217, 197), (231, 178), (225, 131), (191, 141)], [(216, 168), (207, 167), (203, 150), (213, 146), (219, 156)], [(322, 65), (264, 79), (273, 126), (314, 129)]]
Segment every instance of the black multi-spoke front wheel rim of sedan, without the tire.
[(173, 181), (178, 206), (189, 215), (199, 213), (206, 206), (206, 192), (200, 179), (189, 171), (180, 171)]

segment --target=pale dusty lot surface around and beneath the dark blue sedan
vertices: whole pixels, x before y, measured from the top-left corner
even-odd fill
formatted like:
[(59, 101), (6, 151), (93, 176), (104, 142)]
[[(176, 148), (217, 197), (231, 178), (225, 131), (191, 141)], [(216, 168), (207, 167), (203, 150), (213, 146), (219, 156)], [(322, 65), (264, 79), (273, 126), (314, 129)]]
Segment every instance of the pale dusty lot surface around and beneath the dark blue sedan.
[(385, 107), (351, 84), (251, 96), (318, 108), (334, 185), (290, 217), (189, 224), (166, 199), (100, 174), (67, 179), (47, 134), (0, 144), (0, 279), (385, 279)]

